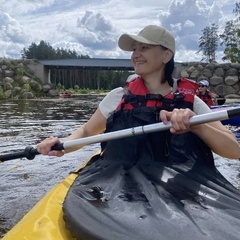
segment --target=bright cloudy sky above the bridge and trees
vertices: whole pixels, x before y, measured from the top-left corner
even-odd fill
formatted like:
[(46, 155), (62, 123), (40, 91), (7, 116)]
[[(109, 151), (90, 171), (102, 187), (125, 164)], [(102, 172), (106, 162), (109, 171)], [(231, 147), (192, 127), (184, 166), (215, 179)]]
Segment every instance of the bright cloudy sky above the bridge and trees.
[[(149, 24), (176, 37), (178, 62), (201, 60), (196, 52), (206, 26), (219, 31), (233, 19), (237, 0), (0, 0), (0, 57), (21, 58), (41, 40), (96, 58), (129, 58), (117, 41)], [(221, 61), (221, 49), (217, 53)]]

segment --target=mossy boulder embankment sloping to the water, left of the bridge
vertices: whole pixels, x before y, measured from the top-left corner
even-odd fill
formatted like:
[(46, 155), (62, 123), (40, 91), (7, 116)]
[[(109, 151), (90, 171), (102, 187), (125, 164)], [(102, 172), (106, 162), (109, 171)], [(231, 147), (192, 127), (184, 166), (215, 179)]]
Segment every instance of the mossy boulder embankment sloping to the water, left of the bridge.
[(0, 99), (54, 97), (59, 93), (53, 84), (43, 84), (27, 68), (30, 60), (0, 58)]

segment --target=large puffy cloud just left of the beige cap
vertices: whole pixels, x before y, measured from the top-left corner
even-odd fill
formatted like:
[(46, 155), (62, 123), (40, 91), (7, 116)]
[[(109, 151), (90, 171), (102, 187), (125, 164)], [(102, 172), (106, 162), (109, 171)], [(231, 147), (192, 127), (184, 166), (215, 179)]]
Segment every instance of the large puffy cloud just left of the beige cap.
[[(70, 27), (62, 23), (58, 26), (58, 30), (64, 33), (64, 41), (61, 37), (56, 40), (54, 46), (65, 43), (63, 44), (65, 47), (74, 48), (79, 53), (90, 56), (116, 51), (117, 36), (115, 36), (114, 26), (99, 12), (86, 11), (83, 16), (76, 19), (75, 25)], [(68, 44), (67, 41), (69, 41)]]

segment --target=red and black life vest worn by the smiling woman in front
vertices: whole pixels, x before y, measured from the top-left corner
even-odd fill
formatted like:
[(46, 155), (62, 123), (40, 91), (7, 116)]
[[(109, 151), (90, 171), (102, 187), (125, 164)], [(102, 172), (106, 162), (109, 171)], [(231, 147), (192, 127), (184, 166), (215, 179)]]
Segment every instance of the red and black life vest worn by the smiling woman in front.
[[(105, 133), (159, 123), (159, 113), (162, 110), (193, 109), (197, 87), (196, 83), (188, 79), (179, 79), (174, 81), (173, 91), (163, 97), (160, 94), (150, 94), (143, 80), (137, 78), (127, 85), (121, 103), (107, 119)], [(189, 148), (190, 145), (192, 146)], [(199, 151), (204, 149), (202, 145), (202, 140), (191, 132), (172, 134), (168, 130), (101, 143), (102, 157), (110, 161), (119, 160), (134, 164), (135, 161), (144, 159), (180, 163), (195, 158), (196, 161), (210, 161), (212, 164), (212, 159), (199, 155), (205, 154), (205, 150)], [(207, 145), (205, 147), (208, 149), (206, 152), (211, 153)], [(194, 157), (189, 151), (194, 153)]]

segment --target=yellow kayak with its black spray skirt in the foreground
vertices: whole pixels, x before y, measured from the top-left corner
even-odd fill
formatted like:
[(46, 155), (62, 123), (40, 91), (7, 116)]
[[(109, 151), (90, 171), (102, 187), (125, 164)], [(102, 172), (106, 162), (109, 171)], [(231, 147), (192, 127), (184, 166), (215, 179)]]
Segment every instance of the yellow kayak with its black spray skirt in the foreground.
[(239, 239), (240, 192), (214, 166), (189, 170), (188, 163), (99, 156), (59, 183), (2, 240)]

